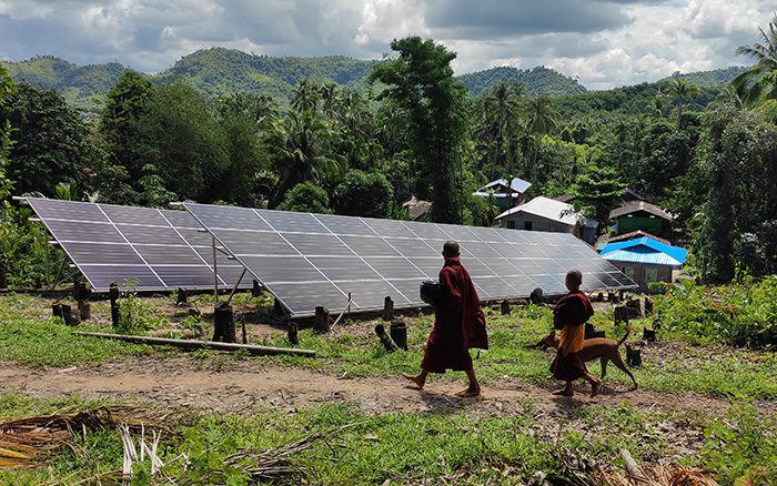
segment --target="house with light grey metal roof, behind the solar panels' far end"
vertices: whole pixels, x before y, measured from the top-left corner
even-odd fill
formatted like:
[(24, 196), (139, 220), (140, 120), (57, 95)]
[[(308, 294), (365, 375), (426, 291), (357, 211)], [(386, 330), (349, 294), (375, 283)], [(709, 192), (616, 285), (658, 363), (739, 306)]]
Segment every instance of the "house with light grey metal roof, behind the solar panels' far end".
[(502, 227), (512, 230), (572, 233), (589, 244), (596, 236), (596, 221), (575, 213), (572, 204), (543, 196), (512, 207), (496, 220), (501, 221)]

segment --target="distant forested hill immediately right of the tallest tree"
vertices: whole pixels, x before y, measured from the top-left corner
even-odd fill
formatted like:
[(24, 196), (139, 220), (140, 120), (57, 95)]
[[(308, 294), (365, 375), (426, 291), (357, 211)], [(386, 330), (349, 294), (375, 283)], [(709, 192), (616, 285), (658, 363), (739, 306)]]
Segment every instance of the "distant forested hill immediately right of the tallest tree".
[(523, 83), (524, 92), (528, 95), (542, 93), (556, 98), (588, 91), (577, 80), (539, 65), (532, 70), (509, 67), (492, 68), (485, 71), (462, 74), (457, 79), (467, 87), (470, 94), (473, 95), (482, 94), (484, 90), (492, 88), (500, 81), (504, 81), (507, 84)]

